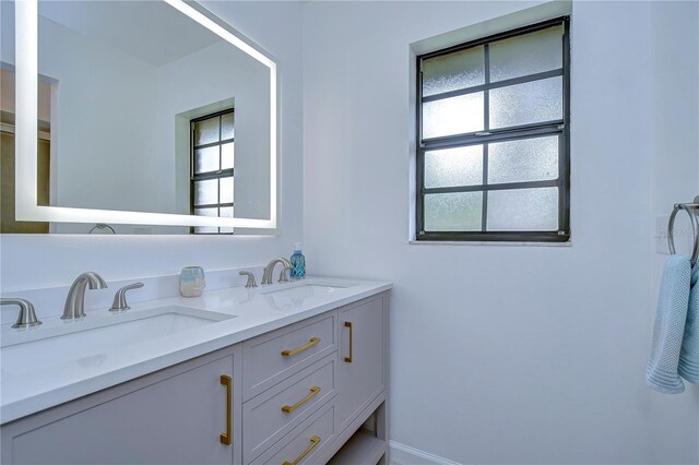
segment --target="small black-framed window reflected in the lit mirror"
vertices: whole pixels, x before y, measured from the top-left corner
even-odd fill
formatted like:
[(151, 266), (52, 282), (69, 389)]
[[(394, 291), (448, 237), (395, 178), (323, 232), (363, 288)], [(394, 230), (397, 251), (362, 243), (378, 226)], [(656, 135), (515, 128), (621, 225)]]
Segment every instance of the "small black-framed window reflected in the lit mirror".
[[(191, 128), (191, 213), (233, 218), (234, 110), (196, 118)], [(233, 234), (233, 228), (194, 227), (192, 234)]]

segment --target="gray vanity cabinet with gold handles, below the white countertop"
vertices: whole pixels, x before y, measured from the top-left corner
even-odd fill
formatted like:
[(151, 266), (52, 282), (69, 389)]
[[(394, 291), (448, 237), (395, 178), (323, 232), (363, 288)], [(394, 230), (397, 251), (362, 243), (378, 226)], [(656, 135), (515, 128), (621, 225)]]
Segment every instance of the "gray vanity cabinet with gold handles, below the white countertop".
[(1, 463), (386, 464), (388, 313), (370, 296), (9, 422)]

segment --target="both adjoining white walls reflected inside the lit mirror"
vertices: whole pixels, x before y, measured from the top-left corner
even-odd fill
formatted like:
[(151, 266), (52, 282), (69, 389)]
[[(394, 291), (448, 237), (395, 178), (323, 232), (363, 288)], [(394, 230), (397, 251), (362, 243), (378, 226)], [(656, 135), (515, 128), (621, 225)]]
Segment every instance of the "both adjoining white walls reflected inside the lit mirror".
[[(218, 40), (155, 67), (39, 16), (39, 73), (58, 90), (52, 205), (189, 214), (189, 155), (186, 162), (174, 156), (176, 115), (235, 96), (235, 216), (269, 218), (270, 76), (246, 53)], [(86, 233), (91, 226), (55, 229)]]

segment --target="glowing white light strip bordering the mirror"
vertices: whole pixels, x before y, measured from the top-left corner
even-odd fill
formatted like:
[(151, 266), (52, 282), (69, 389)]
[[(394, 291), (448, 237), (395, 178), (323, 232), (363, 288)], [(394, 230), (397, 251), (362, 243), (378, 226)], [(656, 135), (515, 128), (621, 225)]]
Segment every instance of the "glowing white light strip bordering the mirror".
[(276, 229), (277, 225), (277, 69), (260, 47), (196, 1), (163, 0), (270, 70), (270, 218), (145, 213), (37, 204), (38, 0), (15, 2), (15, 218), (25, 222), (108, 223), (159, 226), (218, 226)]

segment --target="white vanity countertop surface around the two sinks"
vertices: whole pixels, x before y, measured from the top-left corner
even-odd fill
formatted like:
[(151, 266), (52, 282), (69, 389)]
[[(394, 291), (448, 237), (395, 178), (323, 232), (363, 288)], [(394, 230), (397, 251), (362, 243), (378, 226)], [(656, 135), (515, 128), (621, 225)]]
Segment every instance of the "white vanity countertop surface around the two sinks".
[[(275, 290), (304, 285), (333, 286), (331, 291), (313, 296), (294, 297), (274, 295)], [(1, 326), (0, 347), (0, 424), (22, 418), (46, 408), (72, 401), (125, 381), (179, 363), (203, 354), (227, 347), (257, 335), (323, 313), (371, 295), (388, 290), (391, 283), (342, 278), (308, 277), (288, 284), (246, 289), (230, 287), (202, 294), (201, 297), (170, 297), (131, 306), (123, 313), (87, 311), (78, 321), (63, 321), (58, 317), (44, 319), (44, 324), (29, 330)], [(60, 332), (66, 325), (90, 325), (100, 319), (134, 318), (153, 309), (177, 307), (235, 315), (176, 334), (143, 337), (143, 341), (121, 346), (114, 344), (97, 353), (90, 347), (71, 347), (74, 359), (57, 363), (17, 363), (9, 360), (10, 349), (23, 338), (43, 337)], [(73, 326), (71, 329), (75, 329)], [(48, 341), (48, 339), (45, 339)], [(9, 347), (5, 349), (5, 347)], [(37, 354), (40, 359), (40, 354)], [(20, 369), (10, 367), (17, 367)], [(7, 369), (5, 369), (7, 367)]]

